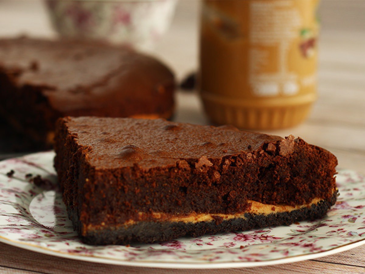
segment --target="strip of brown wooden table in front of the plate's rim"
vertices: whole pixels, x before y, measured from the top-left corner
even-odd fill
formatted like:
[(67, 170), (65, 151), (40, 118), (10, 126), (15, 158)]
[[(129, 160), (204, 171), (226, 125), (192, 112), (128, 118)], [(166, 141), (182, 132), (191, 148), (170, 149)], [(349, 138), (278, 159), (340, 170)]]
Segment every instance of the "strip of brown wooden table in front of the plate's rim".
[[(176, 269), (157, 269), (157, 268), (141, 268), (129, 266), (114, 266), (99, 263), (89, 263), (78, 260), (64, 259), (36, 252), (30, 252), (22, 248), (8, 246), (0, 243), (1, 257), (0, 267), (12, 267), (13, 269), (24, 269), (27, 271), (34, 271), (40, 273), (181, 273), (191, 274), (242, 274), (242, 273), (311, 273), (314, 270), (322, 270), (319, 273), (352, 273), (365, 271), (364, 269), (364, 254), (365, 246), (354, 248), (353, 250), (342, 252), (341, 254), (323, 257), (317, 260), (308, 260), (297, 263), (289, 263), (276, 266), (266, 267), (248, 267), (242, 269), (224, 269), (224, 271), (216, 270), (176, 270)], [(16, 256), (14, 256), (16, 254)], [(344, 254), (343, 256), (341, 256)], [(354, 255), (351, 255), (354, 254)], [(362, 256), (360, 260), (356, 259)], [(356, 257), (356, 258), (355, 258)], [(21, 258), (21, 259), (20, 259)], [(1, 270), (1, 268), (0, 268)]]

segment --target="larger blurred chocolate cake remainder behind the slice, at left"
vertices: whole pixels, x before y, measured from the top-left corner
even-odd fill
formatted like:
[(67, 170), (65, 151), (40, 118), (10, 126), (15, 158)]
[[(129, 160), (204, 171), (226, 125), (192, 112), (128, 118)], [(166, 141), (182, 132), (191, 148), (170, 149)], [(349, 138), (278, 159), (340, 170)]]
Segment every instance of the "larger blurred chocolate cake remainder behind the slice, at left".
[(174, 89), (164, 64), (125, 47), (0, 39), (0, 115), (46, 146), (59, 117), (170, 118)]

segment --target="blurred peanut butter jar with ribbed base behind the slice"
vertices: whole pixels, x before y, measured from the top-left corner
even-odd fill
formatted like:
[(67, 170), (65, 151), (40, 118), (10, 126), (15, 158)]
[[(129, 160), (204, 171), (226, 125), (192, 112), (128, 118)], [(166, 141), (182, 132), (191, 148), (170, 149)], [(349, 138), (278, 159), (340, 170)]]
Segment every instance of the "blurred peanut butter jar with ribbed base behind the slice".
[(212, 122), (280, 129), (316, 100), (318, 0), (204, 0), (200, 95)]

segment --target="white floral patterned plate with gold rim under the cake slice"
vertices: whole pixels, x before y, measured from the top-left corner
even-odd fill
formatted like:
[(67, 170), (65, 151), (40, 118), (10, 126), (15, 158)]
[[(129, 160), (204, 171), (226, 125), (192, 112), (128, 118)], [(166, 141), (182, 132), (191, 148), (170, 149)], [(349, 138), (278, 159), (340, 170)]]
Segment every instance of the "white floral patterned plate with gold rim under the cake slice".
[(337, 175), (341, 195), (322, 220), (153, 245), (88, 246), (68, 220), (53, 157), (54, 152), (43, 152), (0, 162), (0, 241), (72, 259), (171, 268), (289, 263), (365, 243), (365, 177), (342, 170)]

